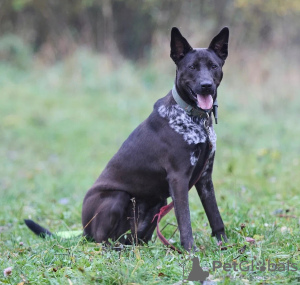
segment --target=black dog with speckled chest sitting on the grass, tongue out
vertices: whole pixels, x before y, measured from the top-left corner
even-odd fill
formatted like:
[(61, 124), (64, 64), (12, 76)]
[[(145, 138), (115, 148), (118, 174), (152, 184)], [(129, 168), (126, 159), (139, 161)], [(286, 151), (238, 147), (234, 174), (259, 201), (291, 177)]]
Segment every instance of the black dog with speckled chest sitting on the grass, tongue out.
[[(228, 38), (225, 27), (207, 49), (193, 49), (177, 28), (172, 29), (175, 85), (155, 103), (150, 116), (130, 134), (87, 192), (82, 207), (85, 236), (96, 242), (148, 242), (156, 226), (153, 217), (171, 196), (181, 244), (190, 250), (188, 191), (195, 185), (212, 235), (227, 240), (211, 175), (216, 147), (212, 110)], [(35, 233), (44, 230), (28, 220), (27, 225)]]

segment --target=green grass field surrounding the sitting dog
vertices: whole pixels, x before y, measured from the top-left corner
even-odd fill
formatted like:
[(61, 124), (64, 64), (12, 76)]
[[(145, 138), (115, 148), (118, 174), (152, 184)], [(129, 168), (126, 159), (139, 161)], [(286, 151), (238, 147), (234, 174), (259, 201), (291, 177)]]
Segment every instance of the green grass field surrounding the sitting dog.
[[(187, 276), (191, 256), (169, 251), (155, 236), (148, 246), (117, 252), (82, 238), (41, 240), (23, 223), (32, 218), (52, 231), (80, 230), (86, 191), (154, 102), (170, 90), (174, 73), (168, 58), (150, 66), (123, 62), (114, 67), (84, 50), (52, 67), (0, 65), (1, 284), (173, 284), (183, 279), (183, 264)], [(277, 74), (254, 87), (242, 74), (226, 67), (215, 127), (214, 184), (232, 247), (221, 251), (210, 237), (192, 189), (192, 226), (200, 248), (195, 255), (210, 271), (209, 280), (220, 284), (296, 283), (300, 93), (292, 86), (288, 93), (293, 97), (285, 97)], [(173, 213), (161, 226), (166, 223), (176, 223)], [(167, 226), (164, 234), (170, 237), (173, 231)], [(179, 246), (178, 234), (172, 239)], [(212, 271), (213, 261), (233, 260), (290, 261), (298, 270)], [(2, 274), (7, 267), (12, 267), (10, 277)]]

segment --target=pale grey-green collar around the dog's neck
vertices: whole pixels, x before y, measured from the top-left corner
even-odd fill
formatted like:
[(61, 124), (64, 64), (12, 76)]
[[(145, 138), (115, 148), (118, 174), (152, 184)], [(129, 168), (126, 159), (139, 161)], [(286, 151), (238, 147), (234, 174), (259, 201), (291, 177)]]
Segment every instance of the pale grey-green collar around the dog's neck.
[(215, 116), (216, 124), (218, 123), (218, 102), (217, 100), (214, 102), (212, 109), (209, 111), (204, 111), (202, 109), (196, 109), (193, 106), (186, 103), (178, 94), (175, 84), (172, 88), (172, 96), (175, 100), (175, 102), (189, 115), (189, 116), (195, 116), (195, 117), (205, 117), (208, 118), (211, 111), (213, 111)]

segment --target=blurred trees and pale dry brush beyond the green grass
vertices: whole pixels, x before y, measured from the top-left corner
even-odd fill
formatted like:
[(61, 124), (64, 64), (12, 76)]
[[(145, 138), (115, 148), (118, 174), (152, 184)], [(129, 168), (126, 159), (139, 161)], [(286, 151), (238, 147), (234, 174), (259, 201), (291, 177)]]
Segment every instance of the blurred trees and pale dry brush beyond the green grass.
[[(32, 70), (88, 52), (102, 56), (109, 65), (103, 70), (126, 61), (145, 68), (150, 62), (161, 64), (170, 72), (172, 26), (179, 27), (192, 46), (202, 47), (227, 25), (227, 83), (243, 81), (248, 90), (259, 89), (253, 91), (268, 109), (274, 101), (297, 97), (299, 15), (297, 0), (1, 0), (0, 60)], [(73, 72), (76, 82), (84, 76), (80, 70)], [(248, 95), (240, 96), (247, 103)]]

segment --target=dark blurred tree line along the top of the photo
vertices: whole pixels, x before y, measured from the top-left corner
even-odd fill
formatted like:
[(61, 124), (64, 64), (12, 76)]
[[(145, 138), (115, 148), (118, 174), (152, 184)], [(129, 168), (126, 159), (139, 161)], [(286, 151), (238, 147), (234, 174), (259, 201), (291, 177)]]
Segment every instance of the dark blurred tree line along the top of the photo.
[(299, 0), (0, 0), (0, 43), (17, 36), (50, 60), (78, 45), (138, 60), (173, 25), (210, 35), (227, 25), (235, 45), (283, 47), (300, 44), (299, 16)]

